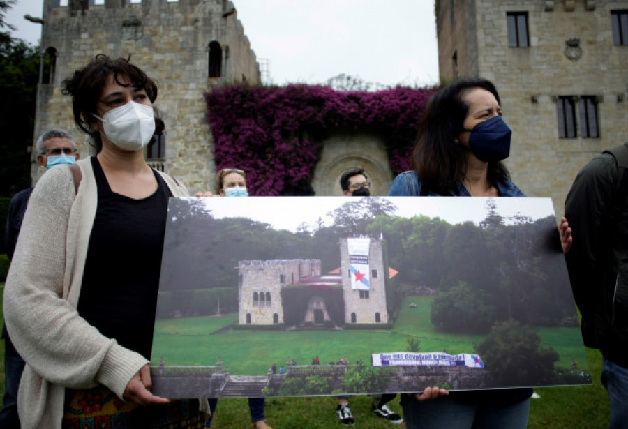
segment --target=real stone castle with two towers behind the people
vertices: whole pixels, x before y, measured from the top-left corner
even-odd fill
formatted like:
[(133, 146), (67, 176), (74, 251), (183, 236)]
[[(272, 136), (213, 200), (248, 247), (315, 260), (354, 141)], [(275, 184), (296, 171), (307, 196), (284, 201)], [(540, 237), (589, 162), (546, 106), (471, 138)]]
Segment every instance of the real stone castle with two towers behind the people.
[[(560, 216), (576, 172), (628, 140), (625, 0), (438, 0), (435, 15), (441, 80), (495, 82), (514, 132), (513, 179), (531, 197), (552, 197)], [(234, 4), (44, 0), (43, 19), (41, 47), (52, 66), (38, 87), (36, 137), (66, 128), (89, 154), (61, 81), (98, 53), (130, 54), (159, 85), (155, 107), (165, 129), (147, 151), (149, 162), (192, 193), (211, 188), (216, 164), (203, 93), (226, 82), (260, 83)], [(387, 193), (393, 178), (380, 137), (338, 130), (322, 143), (316, 195), (340, 195), (338, 179), (351, 167), (368, 172), (372, 195)], [(42, 170), (34, 160), (36, 181)]]

